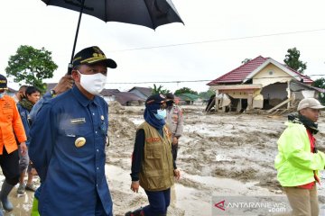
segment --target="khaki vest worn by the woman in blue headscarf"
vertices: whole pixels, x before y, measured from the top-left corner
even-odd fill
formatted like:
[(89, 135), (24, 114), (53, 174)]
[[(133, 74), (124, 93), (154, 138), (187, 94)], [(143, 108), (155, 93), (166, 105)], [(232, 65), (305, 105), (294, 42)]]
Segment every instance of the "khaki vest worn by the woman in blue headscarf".
[(144, 160), (140, 171), (140, 185), (147, 191), (163, 191), (174, 183), (171, 132), (163, 126), (163, 137), (144, 121)]

